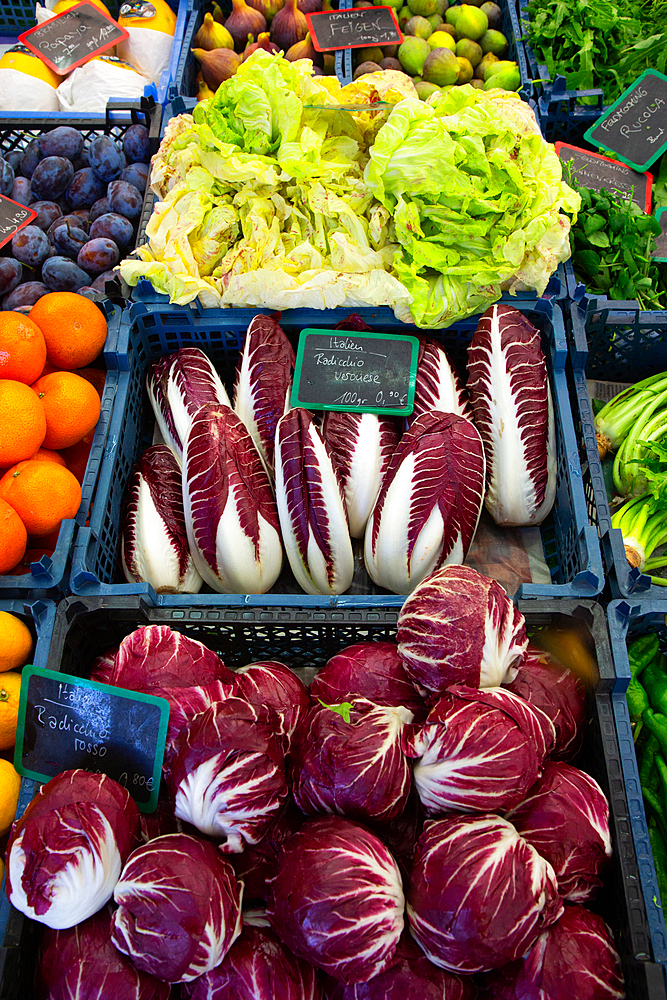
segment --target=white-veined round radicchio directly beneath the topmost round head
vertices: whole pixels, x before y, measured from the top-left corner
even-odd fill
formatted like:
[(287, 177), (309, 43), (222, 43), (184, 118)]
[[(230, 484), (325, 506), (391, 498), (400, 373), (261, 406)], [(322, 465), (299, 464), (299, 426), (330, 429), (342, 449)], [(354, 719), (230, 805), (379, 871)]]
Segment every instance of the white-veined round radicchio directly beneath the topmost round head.
[(423, 726), (404, 732), (427, 813), (502, 812), (534, 784), (554, 728), (539, 709), (503, 688), (453, 684)]

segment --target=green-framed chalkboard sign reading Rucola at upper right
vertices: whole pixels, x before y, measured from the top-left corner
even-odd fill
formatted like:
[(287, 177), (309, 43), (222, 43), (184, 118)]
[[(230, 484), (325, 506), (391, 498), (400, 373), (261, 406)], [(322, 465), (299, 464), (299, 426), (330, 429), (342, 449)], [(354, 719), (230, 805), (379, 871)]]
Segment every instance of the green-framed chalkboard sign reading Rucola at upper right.
[(647, 69), (585, 136), (635, 170), (646, 170), (667, 149), (667, 76)]

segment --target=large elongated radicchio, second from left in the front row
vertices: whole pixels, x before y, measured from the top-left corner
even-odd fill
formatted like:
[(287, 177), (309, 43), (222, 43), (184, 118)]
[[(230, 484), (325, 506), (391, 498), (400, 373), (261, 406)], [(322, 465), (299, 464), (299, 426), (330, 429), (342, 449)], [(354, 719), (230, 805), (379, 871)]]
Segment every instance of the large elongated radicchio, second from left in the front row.
[(183, 452), (183, 506), (197, 569), (222, 594), (264, 594), (278, 579), (282, 545), (259, 452), (228, 406), (203, 406)]

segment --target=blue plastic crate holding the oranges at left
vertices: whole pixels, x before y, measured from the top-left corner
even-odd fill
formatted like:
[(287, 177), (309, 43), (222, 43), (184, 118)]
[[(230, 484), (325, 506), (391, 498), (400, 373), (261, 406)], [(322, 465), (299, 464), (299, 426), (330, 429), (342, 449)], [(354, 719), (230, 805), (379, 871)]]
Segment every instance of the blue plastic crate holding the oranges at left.
[[(109, 334), (107, 347), (115, 344), (118, 339), (118, 328), (121, 323), (121, 310), (107, 303), (105, 306)], [(42, 556), (38, 562), (30, 564), (30, 572), (22, 576), (0, 576), (0, 598), (25, 598), (32, 596), (59, 597), (67, 590), (69, 573), (69, 558), (77, 524), (84, 524), (88, 516), (93, 498), (97, 475), (102, 462), (107, 433), (111, 423), (111, 413), (116, 400), (117, 391), (123, 395), (128, 377), (126, 373), (112, 368), (107, 371), (102, 394), (100, 419), (98, 420), (93, 438), (93, 444), (86, 466), (83, 483), (81, 484), (81, 506), (74, 518), (62, 522), (58, 542), (52, 556)]]

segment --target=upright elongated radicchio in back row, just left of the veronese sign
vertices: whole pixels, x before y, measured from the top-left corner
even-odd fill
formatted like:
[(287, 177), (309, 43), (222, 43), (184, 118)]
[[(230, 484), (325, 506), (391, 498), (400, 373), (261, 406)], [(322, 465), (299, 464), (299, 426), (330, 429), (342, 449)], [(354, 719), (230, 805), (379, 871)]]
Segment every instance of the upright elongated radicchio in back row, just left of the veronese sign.
[(294, 360), (292, 345), (276, 320), (255, 316), (236, 369), (234, 411), (250, 431), (269, 472), (273, 471), (276, 427), (289, 406)]

